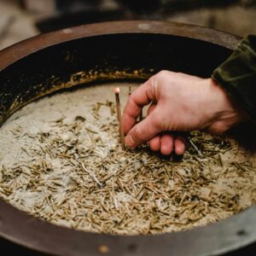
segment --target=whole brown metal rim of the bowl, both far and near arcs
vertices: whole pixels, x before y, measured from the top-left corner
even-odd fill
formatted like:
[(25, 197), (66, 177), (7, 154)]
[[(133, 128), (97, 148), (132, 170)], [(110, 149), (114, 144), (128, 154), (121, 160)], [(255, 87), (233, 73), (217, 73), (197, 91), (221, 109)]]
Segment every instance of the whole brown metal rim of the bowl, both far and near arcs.
[[(77, 38), (111, 33), (157, 33), (195, 38), (236, 48), (241, 38), (212, 29), (159, 21), (116, 21), (50, 32), (0, 52), (0, 70), (26, 55)], [(213, 255), (256, 241), (256, 207), (218, 224), (160, 236), (108, 236), (61, 228), (0, 201), (0, 235), (23, 246), (61, 255), (97, 255), (105, 245), (112, 255)]]

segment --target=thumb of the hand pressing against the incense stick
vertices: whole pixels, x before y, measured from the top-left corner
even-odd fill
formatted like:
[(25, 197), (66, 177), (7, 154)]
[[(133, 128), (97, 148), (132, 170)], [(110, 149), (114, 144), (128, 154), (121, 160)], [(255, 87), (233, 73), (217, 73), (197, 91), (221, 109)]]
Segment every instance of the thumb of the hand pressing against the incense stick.
[(129, 148), (135, 148), (158, 135), (161, 132), (159, 116), (158, 111), (154, 109), (147, 118), (133, 126), (125, 137), (125, 144)]

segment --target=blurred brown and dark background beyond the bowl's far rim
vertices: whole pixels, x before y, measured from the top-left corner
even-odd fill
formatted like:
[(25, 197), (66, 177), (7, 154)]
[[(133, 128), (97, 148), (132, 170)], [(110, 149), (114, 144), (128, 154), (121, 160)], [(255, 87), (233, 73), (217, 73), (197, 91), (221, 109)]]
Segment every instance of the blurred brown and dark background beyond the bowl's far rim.
[(107, 20), (166, 20), (256, 34), (256, 0), (0, 0), (0, 49), (41, 32)]

